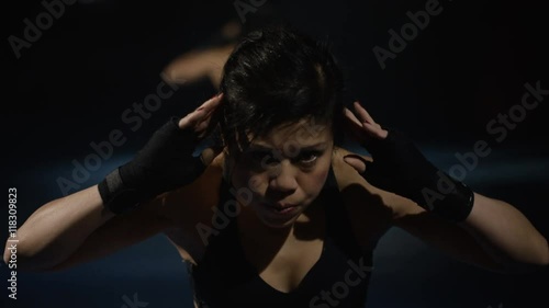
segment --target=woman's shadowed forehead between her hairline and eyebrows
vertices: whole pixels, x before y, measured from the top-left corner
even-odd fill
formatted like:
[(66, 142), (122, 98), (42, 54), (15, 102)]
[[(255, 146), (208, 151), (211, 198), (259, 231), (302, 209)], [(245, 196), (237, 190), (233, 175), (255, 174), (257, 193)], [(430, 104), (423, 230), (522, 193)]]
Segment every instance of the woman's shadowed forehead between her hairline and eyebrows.
[(251, 146), (282, 148), (284, 144), (291, 142), (301, 147), (311, 147), (318, 144), (327, 144), (332, 140), (333, 136), (329, 125), (315, 123), (314, 119), (305, 118), (296, 123), (274, 127), (267, 136), (258, 136), (251, 139)]

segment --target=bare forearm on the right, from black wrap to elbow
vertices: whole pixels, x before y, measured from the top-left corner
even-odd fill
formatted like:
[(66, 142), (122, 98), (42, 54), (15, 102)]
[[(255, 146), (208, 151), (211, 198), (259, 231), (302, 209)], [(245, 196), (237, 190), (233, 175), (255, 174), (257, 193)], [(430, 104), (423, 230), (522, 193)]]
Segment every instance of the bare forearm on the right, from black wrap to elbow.
[(472, 212), (458, 225), (511, 272), (549, 264), (547, 239), (508, 203), (475, 193)]

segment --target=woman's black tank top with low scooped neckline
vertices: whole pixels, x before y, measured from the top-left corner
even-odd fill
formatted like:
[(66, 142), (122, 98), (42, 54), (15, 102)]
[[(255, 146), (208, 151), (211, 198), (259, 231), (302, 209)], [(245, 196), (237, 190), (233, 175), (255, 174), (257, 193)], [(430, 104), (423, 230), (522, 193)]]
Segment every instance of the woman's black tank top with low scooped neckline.
[[(222, 181), (219, 206), (228, 199), (229, 185)], [(318, 197), (325, 198), (326, 232), (322, 254), (298, 288), (290, 293), (267, 284), (246, 262), (236, 218), (211, 236), (197, 265), (188, 262), (194, 300), (200, 308), (365, 307), (377, 240), (362, 251), (352, 232), (334, 171)]]

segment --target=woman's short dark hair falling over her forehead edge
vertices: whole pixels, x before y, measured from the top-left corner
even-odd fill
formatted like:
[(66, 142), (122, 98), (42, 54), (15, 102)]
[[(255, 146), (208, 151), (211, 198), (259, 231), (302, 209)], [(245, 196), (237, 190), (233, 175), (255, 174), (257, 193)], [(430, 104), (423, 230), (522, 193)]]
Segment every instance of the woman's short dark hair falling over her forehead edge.
[(249, 32), (228, 57), (214, 117), (229, 151), (246, 149), (279, 125), (309, 118), (343, 141), (343, 75), (327, 44), (289, 26)]

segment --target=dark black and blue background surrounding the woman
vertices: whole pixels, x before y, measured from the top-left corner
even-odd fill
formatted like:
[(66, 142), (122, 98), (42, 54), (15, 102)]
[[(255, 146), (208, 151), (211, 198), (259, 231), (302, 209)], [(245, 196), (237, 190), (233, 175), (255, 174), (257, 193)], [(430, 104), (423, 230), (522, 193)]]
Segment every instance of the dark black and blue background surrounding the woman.
[[(455, 153), (485, 140), (492, 153), (464, 182), (509, 202), (547, 237), (549, 96), (503, 141), (486, 132), (491, 119), (520, 103), (526, 82), (549, 89), (546, 8), (440, 1), (442, 12), (381, 69), (372, 48), (388, 49), (388, 31), (400, 32), (410, 22), (406, 12), (424, 10), (426, 2), (267, 1), (246, 15), (244, 27), (284, 21), (329, 42), (346, 75), (348, 102), (360, 100), (378, 123), (406, 132), (442, 169), (458, 163)], [(22, 38), (23, 20), (34, 22), (44, 7), (19, 1), (1, 10), (2, 183), (18, 189), (20, 224), (63, 196), (56, 180), (70, 179), (71, 161), (93, 152), (90, 142), (107, 140), (113, 129), (127, 137), (79, 184), (82, 189), (128, 160), (169, 115), (184, 115), (210, 98), (215, 89), (203, 80), (179, 88), (136, 132), (121, 119), (134, 102), (156, 91), (168, 62), (215, 44), (220, 26), (239, 21), (233, 1), (79, 1), (65, 9), (20, 59), (8, 37)], [(547, 271), (488, 273), (399, 229), (382, 239), (376, 258), (369, 307), (548, 306)], [(5, 266), (0, 270), (5, 281)], [(158, 236), (64, 272), (19, 272), (19, 299), (2, 296), (8, 300), (2, 307), (123, 307), (123, 296), (135, 293), (149, 307), (191, 307), (186, 275), (176, 250)]]

